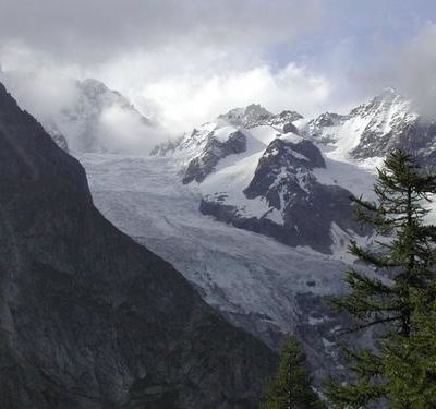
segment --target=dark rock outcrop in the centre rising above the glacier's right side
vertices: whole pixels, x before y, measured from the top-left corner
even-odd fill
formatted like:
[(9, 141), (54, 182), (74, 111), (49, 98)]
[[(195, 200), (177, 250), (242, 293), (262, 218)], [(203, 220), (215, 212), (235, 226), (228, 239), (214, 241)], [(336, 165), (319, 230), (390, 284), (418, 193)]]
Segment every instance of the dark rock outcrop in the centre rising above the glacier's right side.
[(269, 207), (266, 214), (246, 217), (238, 206), (227, 205), (223, 195), (204, 197), (201, 210), (289, 245), (308, 245), (329, 253), (335, 241), (334, 226), (351, 232), (360, 232), (360, 228), (353, 221), (351, 193), (317, 182), (312, 170), (325, 167), (312, 142), (296, 135), (276, 139), (244, 190), (247, 200), (261, 200)]

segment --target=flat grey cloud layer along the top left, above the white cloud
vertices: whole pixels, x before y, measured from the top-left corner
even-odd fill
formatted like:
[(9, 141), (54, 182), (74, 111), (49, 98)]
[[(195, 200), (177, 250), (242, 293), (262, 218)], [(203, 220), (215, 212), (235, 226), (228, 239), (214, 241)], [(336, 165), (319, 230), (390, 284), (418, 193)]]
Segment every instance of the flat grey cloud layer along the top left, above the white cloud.
[(259, 49), (314, 28), (320, 12), (319, 0), (5, 0), (0, 38), (89, 64), (186, 40)]

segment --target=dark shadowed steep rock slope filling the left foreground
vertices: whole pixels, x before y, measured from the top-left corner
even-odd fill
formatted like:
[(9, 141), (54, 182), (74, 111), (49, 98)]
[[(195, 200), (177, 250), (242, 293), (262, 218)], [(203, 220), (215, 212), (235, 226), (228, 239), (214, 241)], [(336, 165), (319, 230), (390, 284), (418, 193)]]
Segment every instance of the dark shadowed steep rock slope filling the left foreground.
[(256, 406), (276, 356), (108, 222), (1, 85), (0, 173), (2, 406)]

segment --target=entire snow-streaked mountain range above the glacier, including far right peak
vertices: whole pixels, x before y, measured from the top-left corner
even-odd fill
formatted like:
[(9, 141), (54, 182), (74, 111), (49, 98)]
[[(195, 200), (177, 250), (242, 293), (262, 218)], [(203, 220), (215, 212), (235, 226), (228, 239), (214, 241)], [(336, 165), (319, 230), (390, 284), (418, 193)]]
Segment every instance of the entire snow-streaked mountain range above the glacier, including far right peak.
[(389, 88), (348, 115), (312, 120), (259, 105), (235, 108), (154, 154), (179, 160), (203, 214), (331, 254), (370, 233), (355, 224), (350, 196), (371, 195), (386, 154), (402, 146), (434, 164), (435, 141), (435, 122)]

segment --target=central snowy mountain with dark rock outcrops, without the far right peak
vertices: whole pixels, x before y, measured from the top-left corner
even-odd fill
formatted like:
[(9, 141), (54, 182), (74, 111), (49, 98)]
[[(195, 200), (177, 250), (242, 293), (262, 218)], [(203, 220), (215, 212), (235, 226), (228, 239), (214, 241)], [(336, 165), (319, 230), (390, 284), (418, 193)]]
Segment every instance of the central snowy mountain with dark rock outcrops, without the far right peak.
[(351, 192), (317, 180), (322, 152), (299, 135), (303, 117), (274, 116), (258, 105), (237, 108), (156, 155), (181, 161), (183, 183), (196, 183), (201, 212), (290, 245), (331, 253), (338, 240), (361, 233)]

